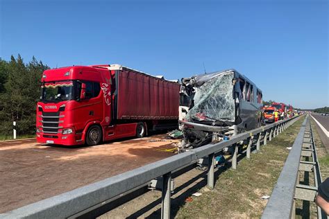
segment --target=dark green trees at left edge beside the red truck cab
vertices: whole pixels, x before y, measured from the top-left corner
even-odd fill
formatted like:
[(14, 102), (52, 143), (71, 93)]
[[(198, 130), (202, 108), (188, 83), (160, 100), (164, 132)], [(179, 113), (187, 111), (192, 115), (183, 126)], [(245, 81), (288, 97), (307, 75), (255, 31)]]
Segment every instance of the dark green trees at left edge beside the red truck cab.
[(35, 134), (35, 107), (46, 69), (49, 67), (34, 56), (28, 63), (21, 55), (0, 60), (0, 136), (12, 135), (13, 121), (17, 122), (17, 134)]

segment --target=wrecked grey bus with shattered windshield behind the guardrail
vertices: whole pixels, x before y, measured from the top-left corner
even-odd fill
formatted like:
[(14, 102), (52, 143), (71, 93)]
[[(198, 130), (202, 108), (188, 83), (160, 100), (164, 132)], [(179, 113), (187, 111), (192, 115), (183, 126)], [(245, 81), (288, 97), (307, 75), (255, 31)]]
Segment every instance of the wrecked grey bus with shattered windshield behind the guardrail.
[(181, 86), (189, 110), (180, 151), (260, 127), (262, 91), (235, 69), (182, 78)]

